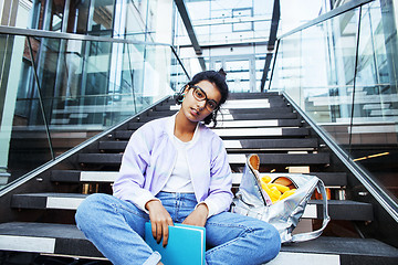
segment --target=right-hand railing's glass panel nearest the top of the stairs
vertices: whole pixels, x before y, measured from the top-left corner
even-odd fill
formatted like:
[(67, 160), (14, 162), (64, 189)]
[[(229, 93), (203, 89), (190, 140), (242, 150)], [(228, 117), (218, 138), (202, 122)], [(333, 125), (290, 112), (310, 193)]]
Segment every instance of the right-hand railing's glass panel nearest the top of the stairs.
[(284, 89), (337, 142), (349, 142), (358, 9), (280, 41), (272, 89)]

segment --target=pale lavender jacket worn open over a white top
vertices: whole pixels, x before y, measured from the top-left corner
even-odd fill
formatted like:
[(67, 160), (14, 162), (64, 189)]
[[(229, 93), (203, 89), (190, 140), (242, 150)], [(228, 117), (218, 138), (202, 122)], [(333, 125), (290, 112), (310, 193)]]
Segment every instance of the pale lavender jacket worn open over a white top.
[[(148, 212), (145, 204), (164, 188), (176, 163), (175, 119), (176, 115), (151, 120), (133, 134), (113, 186), (114, 197)], [(222, 140), (199, 124), (191, 141), (187, 159), (198, 203), (208, 205), (209, 216), (229, 210), (232, 176)]]

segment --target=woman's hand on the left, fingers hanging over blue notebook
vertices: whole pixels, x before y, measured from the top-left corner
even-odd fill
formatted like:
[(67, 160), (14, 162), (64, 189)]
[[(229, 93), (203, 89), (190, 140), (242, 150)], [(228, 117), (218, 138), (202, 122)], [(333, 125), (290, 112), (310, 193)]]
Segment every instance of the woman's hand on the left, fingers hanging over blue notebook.
[(169, 235), (168, 225), (174, 225), (170, 214), (158, 200), (148, 201), (145, 208), (149, 211), (154, 239), (156, 239), (157, 243), (163, 239), (163, 245), (166, 246)]

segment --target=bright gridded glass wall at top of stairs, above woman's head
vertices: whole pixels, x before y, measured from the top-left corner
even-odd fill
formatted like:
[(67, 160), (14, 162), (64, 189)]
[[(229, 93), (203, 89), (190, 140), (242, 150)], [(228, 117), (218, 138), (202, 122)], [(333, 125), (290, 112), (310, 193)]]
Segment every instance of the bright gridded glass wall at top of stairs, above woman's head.
[[(208, 70), (227, 72), (231, 92), (260, 91), (273, 0), (185, 1)], [(179, 17), (178, 17), (179, 18)], [(201, 71), (184, 23), (177, 20), (176, 45), (191, 72)]]

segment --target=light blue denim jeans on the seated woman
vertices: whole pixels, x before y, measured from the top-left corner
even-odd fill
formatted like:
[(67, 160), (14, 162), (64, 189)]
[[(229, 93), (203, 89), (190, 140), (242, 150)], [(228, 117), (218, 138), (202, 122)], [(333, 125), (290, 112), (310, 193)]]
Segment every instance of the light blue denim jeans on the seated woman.
[[(175, 223), (195, 209), (192, 193), (160, 192), (157, 198)], [(149, 215), (133, 203), (107, 194), (92, 194), (76, 212), (77, 227), (115, 265), (156, 265), (161, 256), (143, 240)], [(208, 219), (207, 264), (262, 264), (274, 258), (281, 247), (277, 231), (256, 219), (222, 212)]]

